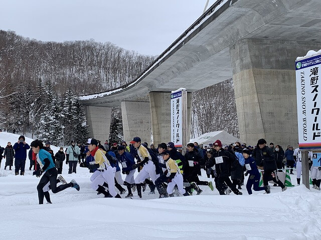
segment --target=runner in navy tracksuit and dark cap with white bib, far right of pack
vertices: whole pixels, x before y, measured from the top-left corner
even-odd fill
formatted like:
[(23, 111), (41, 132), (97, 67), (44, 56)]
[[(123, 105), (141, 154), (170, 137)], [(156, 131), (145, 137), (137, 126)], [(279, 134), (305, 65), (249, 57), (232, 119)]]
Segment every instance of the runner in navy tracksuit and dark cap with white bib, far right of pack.
[(245, 167), (246, 167), (246, 172), (245, 176), (249, 175), (249, 178), (247, 179), (246, 182), (246, 189), (247, 192), (252, 194), (252, 186), (254, 191), (262, 191), (262, 190), (269, 190), (270, 186), (267, 185), (266, 187), (264, 186), (259, 186), (260, 183), (260, 172), (257, 169), (256, 161), (253, 157), (250, 156), (251, 150), (248, 148), (244, 148), (242, 151), (242, 154), (245, 158)]

